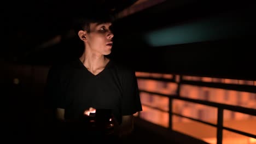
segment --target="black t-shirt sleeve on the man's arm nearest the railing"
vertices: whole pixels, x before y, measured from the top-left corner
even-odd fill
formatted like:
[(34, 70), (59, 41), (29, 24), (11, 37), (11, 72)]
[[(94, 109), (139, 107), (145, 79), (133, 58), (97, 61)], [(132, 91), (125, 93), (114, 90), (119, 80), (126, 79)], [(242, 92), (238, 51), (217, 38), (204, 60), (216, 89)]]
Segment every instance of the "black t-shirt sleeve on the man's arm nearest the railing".
[(122, 115), (133, 115), (142, 111), (135, 71), (128, 70), (123, 75)]

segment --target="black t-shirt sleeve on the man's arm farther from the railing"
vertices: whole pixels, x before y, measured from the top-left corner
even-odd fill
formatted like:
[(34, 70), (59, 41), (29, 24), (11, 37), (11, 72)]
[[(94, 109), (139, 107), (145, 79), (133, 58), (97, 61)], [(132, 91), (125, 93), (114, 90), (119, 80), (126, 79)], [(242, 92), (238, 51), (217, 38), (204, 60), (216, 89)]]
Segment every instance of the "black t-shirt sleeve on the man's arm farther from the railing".
[(50, 67), (44, 89), (44, 106), (48, 109), (65, 109), (65, 97), (61, 91), (60, 69)]

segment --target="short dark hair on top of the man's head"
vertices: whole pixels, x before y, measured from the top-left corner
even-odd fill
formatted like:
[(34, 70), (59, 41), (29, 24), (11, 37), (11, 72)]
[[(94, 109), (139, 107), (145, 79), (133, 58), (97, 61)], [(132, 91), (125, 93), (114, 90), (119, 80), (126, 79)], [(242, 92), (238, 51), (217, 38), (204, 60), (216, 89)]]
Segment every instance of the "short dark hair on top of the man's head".
[(75, 34), (80, 30), (90, 32), (90, 23), (113, 23), (114, 20), (114, 16), (107, 10), (84, 11), (73, 17), (73, 28)]

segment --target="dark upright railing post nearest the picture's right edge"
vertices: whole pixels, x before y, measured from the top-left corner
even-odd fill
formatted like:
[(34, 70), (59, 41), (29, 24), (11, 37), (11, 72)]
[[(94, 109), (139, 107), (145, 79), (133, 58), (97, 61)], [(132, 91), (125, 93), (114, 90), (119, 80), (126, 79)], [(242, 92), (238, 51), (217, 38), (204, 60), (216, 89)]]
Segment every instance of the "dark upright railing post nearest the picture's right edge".
[(222, 144), (222, 135), (223, 135), (223, 109), (218, 108), (217, 144)]

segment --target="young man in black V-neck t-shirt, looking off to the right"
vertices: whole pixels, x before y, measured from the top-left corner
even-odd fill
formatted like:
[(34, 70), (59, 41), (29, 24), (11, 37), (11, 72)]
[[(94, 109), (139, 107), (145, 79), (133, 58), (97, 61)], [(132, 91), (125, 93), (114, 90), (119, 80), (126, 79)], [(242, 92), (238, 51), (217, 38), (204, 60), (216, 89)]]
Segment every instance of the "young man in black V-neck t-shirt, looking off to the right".
[[(76, 19), (75, 34), (84, 52), (50, 68), (45, 92), (48, 106), (62, 123), (83, 121), (97, 127), (90, 113), (96, 111), (97, 117), (97, 110), (110, 110), (113, 117), (106, 122), (106, 134), (124, 137), (132, 133), (133, 114), (142, 111), (142, 106), (135, 71), (107, 57), (113, 46), (112, 20), (101, 12)], [(90, 135), (91, 128), (84, 127), (86, 134)]]

